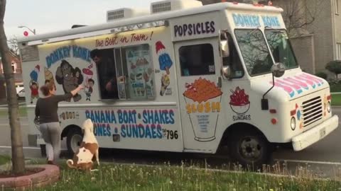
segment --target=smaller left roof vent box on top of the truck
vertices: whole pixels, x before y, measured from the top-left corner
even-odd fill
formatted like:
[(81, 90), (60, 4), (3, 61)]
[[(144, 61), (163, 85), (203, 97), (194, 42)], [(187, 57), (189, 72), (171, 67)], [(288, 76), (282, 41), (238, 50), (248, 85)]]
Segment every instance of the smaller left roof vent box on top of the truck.
[(134, 10), (132, 8), (119, 8), (116, 10), (107, 11), (107, 22), (144, 15), (149, 15), (149, 11), (142, 9)]

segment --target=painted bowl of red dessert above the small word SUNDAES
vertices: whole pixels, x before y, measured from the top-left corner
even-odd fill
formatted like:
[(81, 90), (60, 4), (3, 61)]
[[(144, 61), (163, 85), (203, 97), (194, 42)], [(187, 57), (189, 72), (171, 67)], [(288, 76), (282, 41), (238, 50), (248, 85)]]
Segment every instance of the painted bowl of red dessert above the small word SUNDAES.
[(245, 93), (244, 89), (237, 87), (235, 91), (231, 92), (232, 95), (229, 96), (229, 98), (231, 98), (229, 101), (231, 109), (239, 115), (247, 112), (250, 108), (250, 101), (249, 96)]

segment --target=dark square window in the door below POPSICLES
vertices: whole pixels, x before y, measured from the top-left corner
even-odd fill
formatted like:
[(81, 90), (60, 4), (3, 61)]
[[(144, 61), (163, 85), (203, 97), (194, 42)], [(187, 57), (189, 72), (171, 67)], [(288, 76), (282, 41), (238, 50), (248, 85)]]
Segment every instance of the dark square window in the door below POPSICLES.
[(215, 74), (215, 57), (210, 44), (180, 47), (179, 57), (181, 76)]

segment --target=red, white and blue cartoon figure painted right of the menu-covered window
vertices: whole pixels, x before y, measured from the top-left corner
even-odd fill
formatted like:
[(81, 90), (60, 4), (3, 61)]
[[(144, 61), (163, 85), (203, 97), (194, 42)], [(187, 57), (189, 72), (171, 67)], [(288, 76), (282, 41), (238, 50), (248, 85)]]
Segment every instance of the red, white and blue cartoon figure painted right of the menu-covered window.
[(166, 92), (166, 88), (169, 86), (171, 81), (169, 78), (169, 69), (171, 69), (173, 62), (169, 54), (166, 52), (166, 47), (162, 44), (161, 41), (156, 42), (156, 54), (158, 54), (158, 63), (160, 64), (160, 69), (162, 71), (166, 71), (166, 74), (163, 74), (161, 78), (160, 95), (163, 96)]

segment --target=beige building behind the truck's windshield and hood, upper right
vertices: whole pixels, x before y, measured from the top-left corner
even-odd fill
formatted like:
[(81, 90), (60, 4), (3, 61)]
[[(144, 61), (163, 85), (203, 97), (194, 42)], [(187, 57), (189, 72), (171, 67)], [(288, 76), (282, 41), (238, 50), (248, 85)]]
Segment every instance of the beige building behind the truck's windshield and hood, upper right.
[[(221, 2), (201, 1), (202, 4)], [(267, 4), (267, 1), (260, 3)], [(304, 71), (315, 74), (325, 71), (328, 62), (341, 60), (341, 0), (273, 0), (272, 3), (284, 10), (283, 19)]]

